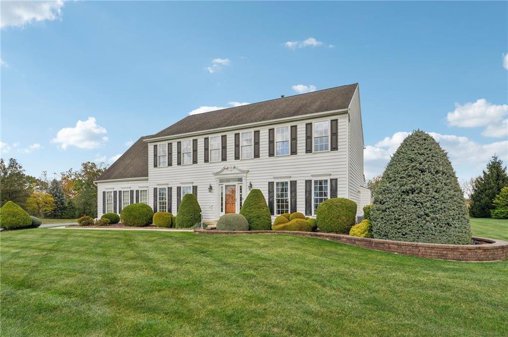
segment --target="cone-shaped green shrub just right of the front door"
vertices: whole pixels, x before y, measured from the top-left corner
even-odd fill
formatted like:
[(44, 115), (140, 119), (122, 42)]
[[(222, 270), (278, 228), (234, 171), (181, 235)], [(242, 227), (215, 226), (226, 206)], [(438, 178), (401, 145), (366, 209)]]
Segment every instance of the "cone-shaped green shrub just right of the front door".
[(258, 189), (250, 191), (243, 202), (240, 214), (249, 223), (249, 231), (268, 231), (272, 228), (272, 216), (263, 193)]

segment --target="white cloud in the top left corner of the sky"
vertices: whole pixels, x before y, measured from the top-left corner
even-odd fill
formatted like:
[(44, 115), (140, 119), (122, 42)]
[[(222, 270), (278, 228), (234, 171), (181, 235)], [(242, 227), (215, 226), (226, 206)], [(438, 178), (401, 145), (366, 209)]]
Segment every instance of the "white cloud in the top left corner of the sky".
[(5, 1), (2, 2), (0, 27), (24, 27), (45, 20), (61, 19), (63, 1)]

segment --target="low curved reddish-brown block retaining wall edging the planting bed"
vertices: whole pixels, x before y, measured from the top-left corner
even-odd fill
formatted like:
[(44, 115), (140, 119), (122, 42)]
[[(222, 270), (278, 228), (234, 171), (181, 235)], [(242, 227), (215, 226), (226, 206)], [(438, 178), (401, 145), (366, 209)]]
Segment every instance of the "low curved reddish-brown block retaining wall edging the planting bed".
[(231, 235), (231, 234), (290, 234), (332, 240), (374, 250), (382, 250), (408, 256), (420, 256), (453, 261), (500, 261), (508, 259), (508, 242), (498, 239), (473, 237), (475, 241), (485, 242), (477, 245), (455, 245), (423, 242), (393, 241), (354, 237), (335, 233), (292, 232), (292, 231), (217, 231), (194, 230), (197, 234)]

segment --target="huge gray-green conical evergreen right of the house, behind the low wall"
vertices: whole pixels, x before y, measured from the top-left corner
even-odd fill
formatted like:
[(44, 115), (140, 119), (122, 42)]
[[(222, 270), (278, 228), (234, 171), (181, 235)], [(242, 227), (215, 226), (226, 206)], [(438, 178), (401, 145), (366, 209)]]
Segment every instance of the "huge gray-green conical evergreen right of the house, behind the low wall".
[(429, 134), (414, 131), (400, 144), (383, 173), (370, 219), (377, 239), (470, 243), (469, 219), (455, 171)]

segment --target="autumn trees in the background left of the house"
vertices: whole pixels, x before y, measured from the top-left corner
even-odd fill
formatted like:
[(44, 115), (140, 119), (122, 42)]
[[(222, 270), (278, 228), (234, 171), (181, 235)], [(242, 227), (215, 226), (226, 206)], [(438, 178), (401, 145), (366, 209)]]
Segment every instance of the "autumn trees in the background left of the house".
[(36, 178), (25, 174), (16, 159), (11, 158), (8, 163), (0, 159), (0, 207), (12, 201), (39, 217), (96, 217), (97, 186), (93, 181), (106, 168), (104, 163), (85, 162), (79, 171), (69, 169), (53, 178), (43, 171)]

